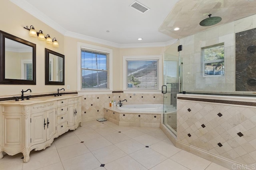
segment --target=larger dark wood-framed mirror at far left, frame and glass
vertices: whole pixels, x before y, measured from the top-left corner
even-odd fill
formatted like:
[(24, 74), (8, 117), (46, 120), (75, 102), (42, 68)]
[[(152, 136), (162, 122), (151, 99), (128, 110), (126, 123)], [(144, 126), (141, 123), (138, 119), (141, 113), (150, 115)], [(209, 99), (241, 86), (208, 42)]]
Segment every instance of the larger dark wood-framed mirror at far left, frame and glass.
[(36, 84), (36, 44), (0, 31), (0, 84)]

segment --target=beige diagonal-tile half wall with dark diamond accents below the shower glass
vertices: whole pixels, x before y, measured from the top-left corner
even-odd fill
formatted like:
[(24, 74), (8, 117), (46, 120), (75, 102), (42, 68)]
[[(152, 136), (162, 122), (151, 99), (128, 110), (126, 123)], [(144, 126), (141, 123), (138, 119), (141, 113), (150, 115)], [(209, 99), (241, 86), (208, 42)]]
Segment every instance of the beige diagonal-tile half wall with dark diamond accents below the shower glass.
[(178, 141), (256, 164), (256, 107), (178, 100), (177, 111)]

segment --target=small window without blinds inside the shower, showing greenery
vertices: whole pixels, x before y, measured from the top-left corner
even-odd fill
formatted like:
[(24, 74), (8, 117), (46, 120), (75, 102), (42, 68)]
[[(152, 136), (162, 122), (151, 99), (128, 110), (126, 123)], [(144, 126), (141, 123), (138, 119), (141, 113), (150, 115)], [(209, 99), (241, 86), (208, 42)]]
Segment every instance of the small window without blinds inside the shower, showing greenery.
[(224, 43), (203, 48), (204, 75), (224, 75)]

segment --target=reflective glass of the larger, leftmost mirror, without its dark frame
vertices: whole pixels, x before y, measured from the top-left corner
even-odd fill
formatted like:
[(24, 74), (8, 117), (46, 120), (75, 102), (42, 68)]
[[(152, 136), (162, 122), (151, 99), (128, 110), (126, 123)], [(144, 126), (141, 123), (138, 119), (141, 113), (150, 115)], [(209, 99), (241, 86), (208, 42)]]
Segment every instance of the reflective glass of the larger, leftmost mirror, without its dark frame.
[(5, 38), (5, 78), (32, 80), (32, 47)]

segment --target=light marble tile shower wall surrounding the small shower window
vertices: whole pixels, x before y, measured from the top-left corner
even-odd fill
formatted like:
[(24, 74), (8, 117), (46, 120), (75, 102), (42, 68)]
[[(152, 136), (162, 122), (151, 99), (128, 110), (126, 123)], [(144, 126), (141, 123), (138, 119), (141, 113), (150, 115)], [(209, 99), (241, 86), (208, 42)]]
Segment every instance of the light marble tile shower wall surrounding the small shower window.
[[(252, 15), (180, 39), (180, 45), (183, 45), (180, 51), (183, 60), (182, 90), (235, 92), (235, 34), (255, 27), (256, 15)], [(218, 43), (224, 43), (225, 76), (203, 76), (201, 48)]]

